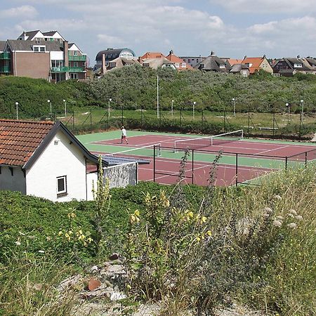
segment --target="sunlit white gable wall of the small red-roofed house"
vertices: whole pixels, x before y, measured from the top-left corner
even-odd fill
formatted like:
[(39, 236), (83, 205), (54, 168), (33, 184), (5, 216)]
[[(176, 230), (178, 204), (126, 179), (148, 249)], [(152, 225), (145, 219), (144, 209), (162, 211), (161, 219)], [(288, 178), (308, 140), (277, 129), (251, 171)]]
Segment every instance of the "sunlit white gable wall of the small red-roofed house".
[[(67, 195), (62, 197), (57, 196), (58, 176), (67, 176)], [(86, 199), (85, 157), (64, 133), (59, 131), (27, 170), (26, 194), (58, 202)]]

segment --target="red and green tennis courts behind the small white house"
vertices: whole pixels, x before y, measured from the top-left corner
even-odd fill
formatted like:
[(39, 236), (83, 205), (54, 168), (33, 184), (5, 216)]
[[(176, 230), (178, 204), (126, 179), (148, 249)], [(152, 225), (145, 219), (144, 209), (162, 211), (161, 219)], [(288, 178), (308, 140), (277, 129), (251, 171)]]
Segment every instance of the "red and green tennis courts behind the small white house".
[(207, 185), (209, 172), (218, 152), (222, 152), (216, 169), (216, 185), (256, 183), (256, 179), (290, 166), (316, 162), (316, 145), (312, 143), (246, 140), (242, 131), (216, 137), (171, 133), (129, 131), (129, 144), (121, 144), (120, 131), (77, 136), (94, 154), (139, 157), (150, 164), (139, 166), (139, 180), (172, 184), (178, 180), (181, 157), (185, 164), (184, 181)]

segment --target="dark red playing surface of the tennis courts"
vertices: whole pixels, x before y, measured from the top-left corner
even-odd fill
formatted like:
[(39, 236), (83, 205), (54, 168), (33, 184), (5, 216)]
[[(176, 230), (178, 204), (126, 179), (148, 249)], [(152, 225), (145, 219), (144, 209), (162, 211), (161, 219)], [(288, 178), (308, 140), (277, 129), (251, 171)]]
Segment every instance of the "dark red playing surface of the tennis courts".
[[(172, 152), (175, 140), (192, 139), (190, 137), (183, 136), (156, 136), (156, 135), (144, 135), (144, 136), (132, 136), (129, 137), (129, 145), (121, 144), (120, 139), (102, 140), (94, 142), (98, 145), (115, 145), (118, 146), (117, 152), (124, 151), (130, 147), (141, 148), (144, 146), (152, 147), (160, 144), (162, 147), (169, 147), (169, 152)], [(126, 148), (128, 147), (128, 148)], [(256, 166), (256, 159), (252, 162), (252, 166), (241, 166), (238, 162), (235, 163), (234, 154), (242, 154), (244, 157), (264, 157), (264, 159), (282, 159), (297, 155), (296, 160), (303, 161), (304, 159), (313, 160), (316, 159), (316, 147), (312, 145), (295, 145), (284, 143), (268, 143), (268, 142), (254, 142), (254, 141), (228, 141), (218, 145), (212, 145), (202, 148), (204, 151), (211, 151), (211, 154), (223, 151), (232, 156), (232, 164), (218, 164), (216, 168), (216, 185), (228, 186), (237, 183), (244, 183), (247, 180), (264, 176), (267, 173), (275, 171), (280, 168)], [(199, 152), (199, 150), (196, 150)], [(308, 152), (305, 154), (305, 152)], [(100, 152), (94, 152), (100, 154)], [(105, 154), (105, 152), (103, 153)], [(121, 157), (137, 157), (133, 155), (133, 152), (126, 152), (118, 154)], [(170, 153), (168, 154), (171, 155)], [(148, 159), (150, 164), (140, 165), (138, 167), (138, 179), (147, 181), (156, 181), (162, 184), (173, 184), (178, 180), (178, 174), (180, 169), (180, 159), (173, 159), (171, 157), (144, 157), (143, 154), (139, 156), (142, 159)], [(212, 156), (210, 156), (212, 157)], [(213, 160), (213, 159), (210, 159)], [(195, 183), (197, 185), (208, 185), (209, 172), (211, 168), (211, 161), (202, 162), (195, 160), (193, 163), (189, 160), (185, 166), (185, 182)]]

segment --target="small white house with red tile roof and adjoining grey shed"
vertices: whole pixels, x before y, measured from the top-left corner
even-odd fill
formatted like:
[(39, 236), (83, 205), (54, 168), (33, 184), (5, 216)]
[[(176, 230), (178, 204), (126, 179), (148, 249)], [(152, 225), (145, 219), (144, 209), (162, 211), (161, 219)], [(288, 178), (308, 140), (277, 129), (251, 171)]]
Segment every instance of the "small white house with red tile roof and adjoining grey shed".
[[(0, 135), (0, 190), (53, 202), (93, 199), (100, 161), (60, 121), (0, 119)], [(149, 163), (129, 157), (102, 160), (110, 187), (136, 184), (138, 164)]]

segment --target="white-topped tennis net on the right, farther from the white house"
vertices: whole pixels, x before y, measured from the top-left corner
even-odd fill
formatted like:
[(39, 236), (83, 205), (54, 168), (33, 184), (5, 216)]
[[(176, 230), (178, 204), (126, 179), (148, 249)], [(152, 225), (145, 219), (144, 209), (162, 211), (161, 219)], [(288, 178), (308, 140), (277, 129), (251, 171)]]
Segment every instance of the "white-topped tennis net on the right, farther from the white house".
[(190, 149), (197, 150), (203, 147), (222, 145), (229, 142), (235, 142), (244, 138), (244, 131), (239, 129), (238, 131), (231, 131), (228, 133), (222, 133), (213, 136), (187, 138), (174, 141), (174, 152), (178, 150)]

